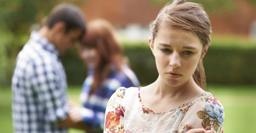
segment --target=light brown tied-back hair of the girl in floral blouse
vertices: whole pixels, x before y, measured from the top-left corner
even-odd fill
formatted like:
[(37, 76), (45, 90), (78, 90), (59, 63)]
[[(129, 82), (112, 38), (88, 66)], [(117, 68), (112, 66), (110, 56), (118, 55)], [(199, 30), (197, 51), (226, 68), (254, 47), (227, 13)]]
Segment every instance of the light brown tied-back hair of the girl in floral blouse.
[[(203, 6), (198, 3), (186, 2), (186, 0), (174, 0), (167, 3), (160, 10), (156, 20), (150, 23), (152, 44), (159, 28), (162, 26), (170, 26), (194, 33), (202, 42), (203, 47), (206, 47), (211, 42), (209, 16), (204, 11)], [(205, 53), (202, 51), (202, 54)], [(199, 87), (205, 90), (206, 78), (202, 60), (198, 62), (198, 66), (193, 73), (193, 80)]]

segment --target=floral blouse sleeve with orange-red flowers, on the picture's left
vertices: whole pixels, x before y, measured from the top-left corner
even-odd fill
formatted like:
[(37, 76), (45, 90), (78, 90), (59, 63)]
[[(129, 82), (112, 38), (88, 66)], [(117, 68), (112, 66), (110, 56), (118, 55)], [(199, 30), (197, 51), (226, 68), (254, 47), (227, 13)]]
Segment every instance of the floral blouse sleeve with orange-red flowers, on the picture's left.
[(104, 133), (124, 133), (125, 89), (118, 88), (107, 103)]

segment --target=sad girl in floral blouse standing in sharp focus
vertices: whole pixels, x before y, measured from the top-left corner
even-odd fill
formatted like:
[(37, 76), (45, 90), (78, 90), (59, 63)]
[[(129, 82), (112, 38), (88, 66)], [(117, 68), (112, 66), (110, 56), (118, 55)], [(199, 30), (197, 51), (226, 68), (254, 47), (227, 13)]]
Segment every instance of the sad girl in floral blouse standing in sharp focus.
[(203, 7), (174, 0), (150, 30), (159, 77), (145, 87), (117, 89), (107, 104), (104, 133), (222, 133), (223, 106), (205, 91), (202, 60), (211, 25)]

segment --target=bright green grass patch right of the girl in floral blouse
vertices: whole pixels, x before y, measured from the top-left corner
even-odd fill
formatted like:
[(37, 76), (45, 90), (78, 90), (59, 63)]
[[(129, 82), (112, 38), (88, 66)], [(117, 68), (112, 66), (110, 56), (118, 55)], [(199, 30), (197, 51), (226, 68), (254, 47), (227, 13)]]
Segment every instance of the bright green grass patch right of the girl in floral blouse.
[(256, 86), (210, 86), (224, 107), (224, 133), (254, 133)]

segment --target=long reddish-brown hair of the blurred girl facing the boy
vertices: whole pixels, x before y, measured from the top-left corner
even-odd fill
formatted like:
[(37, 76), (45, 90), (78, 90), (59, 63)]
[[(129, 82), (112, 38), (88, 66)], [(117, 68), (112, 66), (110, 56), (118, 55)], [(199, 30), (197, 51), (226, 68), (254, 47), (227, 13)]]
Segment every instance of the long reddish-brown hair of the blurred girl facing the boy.
[(100, 61), (94, 68), (91, 95), (106, 79), (111, 71), (111, 65), (114, 64), (119, 71), (122, 71), (122, 48), (115, 39), (114, 27), (102, 19), (88, 23), (86, 35), (80, 45), (95, 48), (100, 55)]

